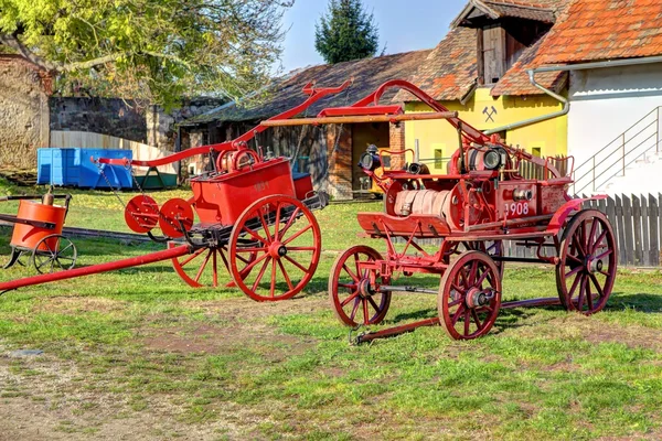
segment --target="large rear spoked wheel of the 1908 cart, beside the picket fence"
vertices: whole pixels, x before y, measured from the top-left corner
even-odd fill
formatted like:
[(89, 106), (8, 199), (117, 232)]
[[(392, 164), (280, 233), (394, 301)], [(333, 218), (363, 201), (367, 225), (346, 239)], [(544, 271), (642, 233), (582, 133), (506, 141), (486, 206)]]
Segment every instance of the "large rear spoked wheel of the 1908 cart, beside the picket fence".
[(618, 258), (607, 216), (597, 209), (577, 213), (563, 234), (558, 256), (556, 287), (563, 305), (586, 315), (605, 308)]

